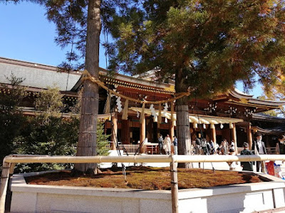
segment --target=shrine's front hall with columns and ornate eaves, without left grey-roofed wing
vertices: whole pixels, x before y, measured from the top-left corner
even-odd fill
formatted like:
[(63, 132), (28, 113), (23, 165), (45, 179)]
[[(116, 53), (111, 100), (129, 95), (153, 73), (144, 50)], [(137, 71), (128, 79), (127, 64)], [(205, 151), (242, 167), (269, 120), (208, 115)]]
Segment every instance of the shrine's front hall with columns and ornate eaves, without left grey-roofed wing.
[[(145, 99), (147, 101), (161, 101), (173, 97), (175, 84), (158, 84), (151, 78), (130, 77), (116, 74), (112, 78), (106, 76), (106, 71), (100, 72), (100, 80), (105, 82), (110, 89), (133, 99)], [(100, 106), (103, 108), (107, 99), (107, 92), (100, 90)], [(159, 110), (157, 106), (145, 105), (144, 119), (140, 122), (142, 104), (128, 103), (128, 119), (122, 119), (122, 112), (118, 111), (118, 102), (113, 97), (111, 106), (112, 118), (105, 121), (105, 132), (111, 133), (111, 141), (120, 141), (123, 144), (138, 144), (147, 138), (148, 144), (157, 143), (161, 133), (173, 138), (176, 131), (176, 114), (171, 121), (170, 104), (162, 106), (162, 122), (157, 124)], [(121, 108), (125, 100), (120, 99)], [(218, 94), (212, 99), (197, 99), (189, 101), (189, 122), (192, 139), (195, 137), (207, 138), (214, 143), (221, 143), (225, 138), (234, 141), (235, 148), (242, 147), (247, 141), (252, 147), (254, 133), (252, 129), (252, 116), (257, 113), (277, 109), (285, 102), (254, 99), (252, 95), (239, 92), (237, 89), (229, 90), (225, 94)], [(103, 111), (101, 109), (101, 111)], [(107, 116), (107, 115), (106, 115)], [(113, 128), (112, 128), (113, 126)], [(113, 129), (113, 131), (112, 131)], [(115, 148), (115, 146), (113, 146)]]

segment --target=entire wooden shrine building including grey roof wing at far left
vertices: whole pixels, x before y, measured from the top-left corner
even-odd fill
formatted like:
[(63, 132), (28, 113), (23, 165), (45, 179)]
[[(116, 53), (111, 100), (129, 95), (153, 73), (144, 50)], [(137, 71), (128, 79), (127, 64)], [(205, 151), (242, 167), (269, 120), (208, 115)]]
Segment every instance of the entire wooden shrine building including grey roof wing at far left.
[[(26, 79), (23, 85), (26, 87), (28, 97), (24, 100), (24, 114), (32, 115), (34, 111), (33, 100), (43, 90), (53, 85), (60, 87), (65, 104), (72, 105), (78, 99), (78, 91), (82, 85), (82, 72), (58, 72), (58, 67), (41, 65), (33, 62), (24, 62), (8, 58), (0, 58), (0, 92), (9, 93), (9, 82), (5, 76), (14, 72), (17, 77)], [(100, 81), (104, 82), (110, 90), (119, 92), (133, 99), (146, 101), (165, 101), (175, 94), (175, 82), (158, 83), (152, 78), (130, 77), (128, 75), (113, 74), (110, 77), (107, 71), (100, 69)], [(66, 83), (63, 83), (66, 82)], [(157, 105), (145, 104), (144, 117), (141, 119), (142, 104), (138, 102), (128, 103), (128, 119), (122, 119), (125, 99), (113, 96), (110, 100), (110, 114), (104, 114), (104, 108), (108, 97), (105, 89), (99, 89), (99, 118), (105, 120), (105, 133), (111, 134), (110, 141), (120, 141), (127, 145), (136, 145), (147, 138), (148, 144), (157, 143), (158, 135), (172, 136), (176, 131), (176, 115), (171, 121), (170, 103), (163, 104), (161, 124), (157, 123), (159, 109)], [(229, 90), (224, 94), (216, 94), (212, 99), (196, 99), (189, 101), (189, 122), (191, 137), (203, 136), (214, 143), (221, 143), (223, 138), (227, 141), (234, 140), (237, 147), (242, 147), (244, 141), (252, 146), (254, 133), (261, 131), (262, 126), (257, 119), (257, 114), (270, 109), (277, 109), (285, 102), (254, 99), (252, 95), (239, 92), (237, 89)], [(280, 119), (262, 118), (265, 122), (274, 121), (276, 124), (283, 122)], [(261, 119), (261, 120), (262, 120)], [(277, 121), (278, 120), (278, 121)], [(258, 121), (258, 122), (257, 122)], [(261, 127), (261, 128), (260, 128)], [(268, 133), (269, 131), (264, 131)], [(276, 131), (270, 131), (276, 133)], [(285, 132), (285, 128), (284, 128)], [(281, 129), (278, 133), (284, 133)], [(268, 145), (273, 146), (271, 139)], [(115, 143), (112, 143), (115, 149)]]

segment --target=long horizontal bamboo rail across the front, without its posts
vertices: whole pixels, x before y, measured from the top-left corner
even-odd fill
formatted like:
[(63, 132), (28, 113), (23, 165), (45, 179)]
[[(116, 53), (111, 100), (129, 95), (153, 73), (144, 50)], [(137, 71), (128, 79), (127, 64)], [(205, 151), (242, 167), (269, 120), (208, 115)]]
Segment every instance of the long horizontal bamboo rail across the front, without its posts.
[(198, 163), (285, 160), (285, 155), (128, 155), (128, 156), (68, 156), (68, 155), (8, 155), (6, 163)]

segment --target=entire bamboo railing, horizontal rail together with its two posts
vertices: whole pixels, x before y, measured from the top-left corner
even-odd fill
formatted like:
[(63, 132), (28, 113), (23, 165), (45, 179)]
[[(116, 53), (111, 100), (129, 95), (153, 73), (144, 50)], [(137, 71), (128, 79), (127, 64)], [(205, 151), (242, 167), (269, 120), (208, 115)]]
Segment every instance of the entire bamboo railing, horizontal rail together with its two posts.
[(16, 163), (170, 163), (172, 212), (178, 212), (177, 163), (285, 160), (285, 155), (128, 155), (128, 156), (48, 156), (7, 155), (3, 160), (0, 185), (0, 213), (5, 211), (9, 176)]

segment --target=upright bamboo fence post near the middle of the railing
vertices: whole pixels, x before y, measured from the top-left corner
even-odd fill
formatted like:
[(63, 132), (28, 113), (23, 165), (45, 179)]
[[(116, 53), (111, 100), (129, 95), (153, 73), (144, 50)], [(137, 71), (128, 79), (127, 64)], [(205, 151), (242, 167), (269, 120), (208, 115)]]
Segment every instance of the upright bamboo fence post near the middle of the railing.
[(172, 156), (172, 162), (170, 163), (170, 175), (171, 175), (172, 213), (178, 213), (177, 163), (175, 163), (175, 155), (171, 156)]

